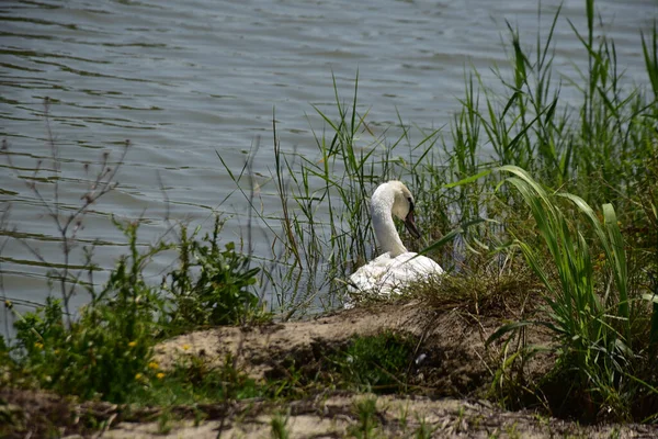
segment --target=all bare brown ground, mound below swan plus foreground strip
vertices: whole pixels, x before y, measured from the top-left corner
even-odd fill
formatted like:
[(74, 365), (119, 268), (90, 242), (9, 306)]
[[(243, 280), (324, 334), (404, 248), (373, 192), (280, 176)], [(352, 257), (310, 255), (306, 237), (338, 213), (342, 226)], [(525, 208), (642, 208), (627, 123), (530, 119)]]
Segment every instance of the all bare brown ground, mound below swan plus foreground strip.
[[(280, 420), (291, 438), (364, 437), (360, 406), (374, 402), (368, 437), (474, 437), (549, 438), (658, 437), (646, 425), (586, 426), (526, 408), (506, 412), (487, 402), (499, 349), (484, 341), (500, 325), (495, 317), (480, 318), (456, 309), (428, 311), (419, 302), (373, 304), (341, 311), (306, 322), (260, 327), (220, 327), (162, 342), (157, 361), (169, 368), (188, 356), (222, 364), (231, 354), (238, 369), (258, 380), (284, 376), (291, 365), (302, 373), (318, 368), (329, 351), (344, 346), (353, 335), (395, 330), (417, 340), (410, 369), (410, 392), (373, 395), (328, 389), (286, 403), (242, 399), (193, 407), (173, 407), (166, 426), (157, 407), (129, 414), (112, 404), (77, 404), (66, 398), (24, 391), (0, 391), (2, 419), (18, 421), (11, 437), (42, 437), (47, 419), (59, 419), (57, 434), (104, 438), (270, 438), (272, 420)], [(542, 334), (529, 334), (547, 342)], [(529, 373), (541, 374), (554, 361), (538, 358)], [(198, 416), (198, 413), (203, 416)], [(43, 428), (39, 429), (39, 426)], [(50, 425), (50, 430), (53, 425)], [(100, 428), (100, 429), (99, 429)], [(8, 430), (9, 431), (9, 430)], [(424, 436), (418, 436), (426, 434)]]

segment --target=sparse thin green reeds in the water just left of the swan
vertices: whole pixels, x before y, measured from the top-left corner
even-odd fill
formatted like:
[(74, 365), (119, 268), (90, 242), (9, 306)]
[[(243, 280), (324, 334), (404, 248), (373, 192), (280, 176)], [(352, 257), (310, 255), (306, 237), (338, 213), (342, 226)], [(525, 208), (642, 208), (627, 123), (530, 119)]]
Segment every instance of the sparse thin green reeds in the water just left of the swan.
[[(395, 156), (401, 145), (411, 142), (408, 128), (400, 122), (401, 134), (388, 144), (366, 126), (367, 110), (361, 113), (356, 100), (358, 77), (347, 103), (339, 95), (336, 79), (333, 90), (336, 115), (315, 109), (329, 128), (314, 131), (319, 158), (284, 154), (273, 126), (275, 167), (271, 181), (281, 205), (280, 226), (275, 230), (260, 212), (259, 218), (273, 234), (276, 260), (264, 275), (275, 294), (275, 306), (283, 308), (286, 317), (309, 306), (340, 303), (347, 275), (374, 256), (370, 194), (379, 182), (409, 171), (408, 160)], [(436, 143), (436, 132), (421, 135), (412, 148), (428, 155)], [(241, 176), (231, 173), (231, 178), (240, 184)]]

